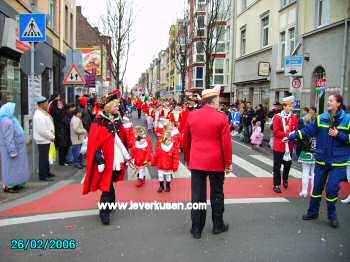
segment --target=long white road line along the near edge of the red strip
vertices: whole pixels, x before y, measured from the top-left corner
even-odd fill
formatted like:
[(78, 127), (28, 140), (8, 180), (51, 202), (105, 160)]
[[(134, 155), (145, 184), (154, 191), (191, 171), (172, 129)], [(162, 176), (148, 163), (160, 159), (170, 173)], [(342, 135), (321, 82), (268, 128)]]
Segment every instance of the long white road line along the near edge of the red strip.
[[(263, 204), (263, 203), (289, 203), (289, 200), (282, 197), (225, 199), (225, 205)], [(210, 204), (210, 201), (208, 201), (208, 204)], [(98, 213), (99, 213), (98, 209), (89, 209), (89, 210), (83, 210), (83, 211), (71, 211), (71, 212), (61, 212), (61, 213), (53, 213), (53, 214), (45, 214), (45, 215), (5, 218), (0, 220), (0, 227), (37, 223), (42, 221), (67, 219), (67, 218), (97, 216)]]

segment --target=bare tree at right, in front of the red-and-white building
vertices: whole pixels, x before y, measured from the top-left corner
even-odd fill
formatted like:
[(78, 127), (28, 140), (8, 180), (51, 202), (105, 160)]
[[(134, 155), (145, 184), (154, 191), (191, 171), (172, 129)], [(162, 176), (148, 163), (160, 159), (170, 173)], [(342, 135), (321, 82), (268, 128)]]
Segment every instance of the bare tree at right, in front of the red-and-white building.
[(198, 41), (205, 55), (205, 88), (209, 88), (211, 85), (215, 54), (220, 51), (219, 44), (225, 37), (226, 26), (231, 18), (231, 12), (230, 0), (207, 0), (205, 34), (200, 36)]

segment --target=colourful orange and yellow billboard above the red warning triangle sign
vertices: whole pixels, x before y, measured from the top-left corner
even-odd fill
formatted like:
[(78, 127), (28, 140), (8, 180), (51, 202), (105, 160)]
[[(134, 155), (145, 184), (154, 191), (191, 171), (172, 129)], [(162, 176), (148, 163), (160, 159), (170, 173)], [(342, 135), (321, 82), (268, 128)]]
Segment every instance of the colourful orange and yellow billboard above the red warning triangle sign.
[(96, 75), (102, 74), (102, 52), (101, 48), (80, 48), (83, 58), (83, 67), (86, 73), (92, 74), (96, 70)]

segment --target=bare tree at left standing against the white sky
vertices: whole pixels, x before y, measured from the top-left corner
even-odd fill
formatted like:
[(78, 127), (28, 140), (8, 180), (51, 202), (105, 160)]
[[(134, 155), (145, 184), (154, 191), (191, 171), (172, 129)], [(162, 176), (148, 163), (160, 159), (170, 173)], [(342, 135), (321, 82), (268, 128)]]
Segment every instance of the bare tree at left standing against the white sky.
[[(112, 39), (112, 74), (120, 85), (125, 77), (132, 44), (134, 11), (128, 0), (107, 0), (106, 15), (102, 17), (104, 34)], [(122, 85), (122, 91), (124, 87)]]

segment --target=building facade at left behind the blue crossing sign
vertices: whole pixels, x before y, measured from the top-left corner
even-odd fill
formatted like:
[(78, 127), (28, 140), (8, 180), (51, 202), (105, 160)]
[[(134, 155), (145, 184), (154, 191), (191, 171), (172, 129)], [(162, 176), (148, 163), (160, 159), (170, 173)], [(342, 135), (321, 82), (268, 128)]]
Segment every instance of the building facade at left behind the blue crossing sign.
[[(2, 0), (0, 1), (0, 96), (1, 104), (14, 101), (16, 116), (29, 130), (33, 101), (28, 96), (30, 49), (18, 40), (18, 15), (47, 14), (47, 41), (35, 44), (36, 94), (63, 97), (66, 54), (75, 48), (75, 0)], [(31, 91), (31, 90), (29, 90)]]

